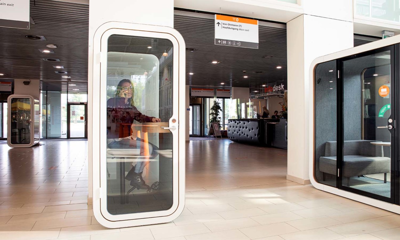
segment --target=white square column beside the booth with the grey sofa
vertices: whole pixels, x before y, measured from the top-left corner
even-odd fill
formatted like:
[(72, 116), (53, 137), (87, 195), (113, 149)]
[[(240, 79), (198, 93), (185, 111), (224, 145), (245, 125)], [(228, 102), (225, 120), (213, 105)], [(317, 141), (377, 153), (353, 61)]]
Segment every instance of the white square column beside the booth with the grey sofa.
[[(308, 162), (313, 157), (309, 153), (308, 144), (309, 139), (313, 138), (309, 134), (309, 121), (312, 118), (309, 103), (313, 101), (313, 92), (310, 92), (312, 82), (309, 80), (310, 64), (317, 57), (353, 47), (353, 22), (348, 21), (346, 15), (349, 12), (332, 9), (334, 4), (330, 9), (322, 9), (320, 4), (308, 5), (314, 1), (304, 2), (304, 12), (317, 13), (315, 6), (318, 6), (319, 13), (325, 14), (326, 17), (304, 14), (287, 23), (288, 174), (286, 178), (301, 184), (310, 183)], [(333, 1), (327, 2), (333, 3)], [(351, 4), (346, 3), (347, 5), (351, 8)], [(310, 8), (306, 9), (307, 6)], [(340, 19), (332, 19), (330, 14), (332, 11), (338, 11)]]

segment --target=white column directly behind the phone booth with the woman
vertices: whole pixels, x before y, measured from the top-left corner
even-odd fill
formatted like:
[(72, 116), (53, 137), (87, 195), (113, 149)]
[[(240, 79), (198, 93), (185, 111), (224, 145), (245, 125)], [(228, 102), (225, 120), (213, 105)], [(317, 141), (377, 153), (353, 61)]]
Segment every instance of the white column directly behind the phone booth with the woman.
[[(174, 0), (142, 1), (142, 0), (93, 0), (89, 4), (89, 61), (88, 61), (88, 204), (92, 203), (92, 132), (98, 131), (98, 121), (93, 121), (93, 37), (96, 29), (106, 22), (130, 22), (158, 26), (174, 26)], [(103, 114), (103, 113), (101, 113)], [(104, 114), (103, 114), (104, 115)], [(95, 116), (97, 119), (97, 116)], [(96, 159), (98, 160), (98, 159)]]

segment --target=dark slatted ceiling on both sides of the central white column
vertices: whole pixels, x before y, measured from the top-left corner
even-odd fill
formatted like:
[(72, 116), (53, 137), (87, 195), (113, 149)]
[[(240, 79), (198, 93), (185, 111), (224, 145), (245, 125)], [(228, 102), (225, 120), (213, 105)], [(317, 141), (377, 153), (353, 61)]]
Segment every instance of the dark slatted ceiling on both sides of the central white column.
[[(68, 84), (61, 76), (67, 75), (76, 84), (74, 88), (87, 90), (89, 5), (48, 0), (34, 4), (31, 0), (30, 16), (34, 21), (30, 30), (0, 28), (3, 78), (40, 79), (44, 90), (66, 90)], [(286, 29), (259, 26), (259, 49), (247, 49), (214, 45), (214, 20), (210, 18), (175, 15), (174, 26), (186, 46), (196, 49), (186, 52), (187, 72), (194, 72), (187, 75), (186, 84), (222, 86), (224, 82), (225, 86), (257, 88), (268, 82), (286, 83)], [(30, 40), (25, 38), (28, 34), (46, 40)], [(46, 44), (58, 46), (54, 54), (39, 52)], [(42, 58), (58, 58), (60, 62)], [(213, 65), (211, 60), (221, 63)], [(62, 70), (68, 74), (55, 73), (56, 65), (64, 66)], [(278, 65), (282, 68), (276, 69)], [(244, 79), (244, 75), (249, 78)]]

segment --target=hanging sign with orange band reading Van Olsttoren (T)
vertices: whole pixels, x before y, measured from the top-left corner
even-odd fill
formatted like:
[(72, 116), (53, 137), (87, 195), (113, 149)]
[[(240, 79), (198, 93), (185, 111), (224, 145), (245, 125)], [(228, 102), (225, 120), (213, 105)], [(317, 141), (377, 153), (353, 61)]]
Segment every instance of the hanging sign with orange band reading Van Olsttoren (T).
[(215, 44), (258, 49), (258, 20), (215, 15)]

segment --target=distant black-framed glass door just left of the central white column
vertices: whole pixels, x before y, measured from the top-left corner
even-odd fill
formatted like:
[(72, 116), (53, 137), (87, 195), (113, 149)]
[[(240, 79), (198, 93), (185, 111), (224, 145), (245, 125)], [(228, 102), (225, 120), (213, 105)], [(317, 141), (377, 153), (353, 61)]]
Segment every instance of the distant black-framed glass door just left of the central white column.
[(87, 138), (87, 105), (68, 104), (67, 138)]

